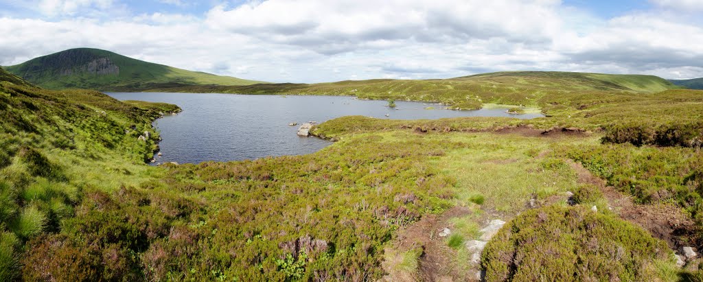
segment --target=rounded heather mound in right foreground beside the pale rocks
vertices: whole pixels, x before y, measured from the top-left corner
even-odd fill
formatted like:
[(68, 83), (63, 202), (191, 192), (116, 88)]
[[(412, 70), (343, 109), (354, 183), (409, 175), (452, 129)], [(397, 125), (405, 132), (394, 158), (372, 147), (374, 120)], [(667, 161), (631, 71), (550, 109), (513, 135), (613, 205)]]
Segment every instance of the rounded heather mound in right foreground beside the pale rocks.
[(650, 281), (655, 263), (673, 264), (670, 255), (663, 241), (617, 217), (552, 205), (508, 222), (481, 265), (486, 281)]

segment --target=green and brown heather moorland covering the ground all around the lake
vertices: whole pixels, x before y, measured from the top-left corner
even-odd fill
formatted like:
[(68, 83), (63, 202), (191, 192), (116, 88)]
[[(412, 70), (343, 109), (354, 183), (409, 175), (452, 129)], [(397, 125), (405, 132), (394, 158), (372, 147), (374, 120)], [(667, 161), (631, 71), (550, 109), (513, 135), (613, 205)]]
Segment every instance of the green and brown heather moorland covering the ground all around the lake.
[[(486, 220), (517, 214), (483, 253), (489, 280), (678, 277), (664, 243), (615, 214), (567, 207), (560, 197), (574, 191), (576, 203), (602, 201), (598, 187), (577, 181), (573, 160), (638, 203), (677, 203), (703, 226), (699, 92), (657, 92), (670, 85), (640, 76), (450, 80), (418, 82), (447, 91), (401, 91), (409, 84), (378, 80), (378, 92), (354, 95), (509, 103), (548, 117), (340, 117), (312, 129), (337, 141), (318, 153), (150, 167), (144, 162), (159, 138), (150, 123), (175, 105), (49, 91), (0, 70), (0, 280), (422, 278), (431, 250), (413, 241), (389, 247), (421, 219), (450, 210), (461, 212), (447, 219), (452, 234), (438, 248), (449, 254), (446, 269), (454, 272), (446, 275), (459, 280), (477, 267), (465, 242), (480, 236)], [(460, 81), (496, 87), (477, 86), (484, 90), (467, 98), (460, 91), (473, 90)], [(345, 84), (345, 91), (361, 85), (280, 87), (322, 94)], [(510, 84), (517, 86), (508, 91)], [(386, 96), (392, 85), (402, 95)], [(545, 87), (553, 92), (535, 90)], [(651, 134), (633, 137), (640, 128)]]

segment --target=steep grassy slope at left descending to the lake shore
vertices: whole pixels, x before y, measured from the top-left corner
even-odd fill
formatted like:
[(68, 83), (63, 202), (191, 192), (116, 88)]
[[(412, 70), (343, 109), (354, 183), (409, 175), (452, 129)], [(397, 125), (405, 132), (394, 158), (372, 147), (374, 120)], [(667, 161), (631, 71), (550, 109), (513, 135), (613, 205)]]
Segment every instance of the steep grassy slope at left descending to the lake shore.
[[(151, 123), (178, 110), (98, 91), (41, 89), (0, 68), (0, 281), (82, 280), (70, 271), (72, 278), (22, 277), (32, 269), (22, 262), (32, 253), (27, 246), (70, 226), (84, 197), (148, 179), (142, 172), (153, 168), (144, 161), (159, 140)], [(101, 265), (89, 267), (93, 277), (83, 280), (99, 280)]]

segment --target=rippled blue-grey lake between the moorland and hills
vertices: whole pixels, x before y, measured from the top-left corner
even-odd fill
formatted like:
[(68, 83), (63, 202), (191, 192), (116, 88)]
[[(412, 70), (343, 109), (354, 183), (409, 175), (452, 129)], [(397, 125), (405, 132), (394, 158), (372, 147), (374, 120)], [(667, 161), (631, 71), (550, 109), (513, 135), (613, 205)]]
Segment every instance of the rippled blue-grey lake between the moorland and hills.
[[(314, 120), (324, 122), (344, 115), (422, 120), (443, 117), (541, 117), (510, 115), (505, 109), (441, 110), (435, 103), (356, 100), (348, 96), (273, 96), (183, 93), (108, 93), (119, 100), (165, 102), (179, 105), (182, 113), (155, 122), (163, 141), (157, 162), (199, 163), (279, 155), (314, 153), (330, 141), (299, 137), (298, 127)], [(437, 110), (425, 110), (433, 106)], [(385, 115), (389, 114), (389, 117)]]

